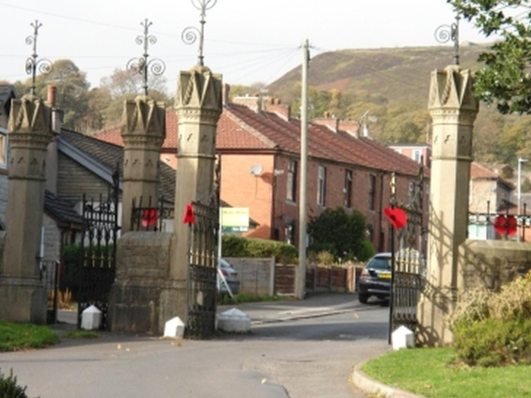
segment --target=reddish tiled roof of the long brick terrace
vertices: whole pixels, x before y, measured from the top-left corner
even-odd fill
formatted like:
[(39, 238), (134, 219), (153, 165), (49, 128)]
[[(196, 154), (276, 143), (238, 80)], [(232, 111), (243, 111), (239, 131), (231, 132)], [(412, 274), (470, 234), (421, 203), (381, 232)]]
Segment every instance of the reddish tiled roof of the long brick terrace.
[[(166, 139), (163, 149), (177, 148), (178, 120), (173, 108), (166, 110)], [(119, 126), (107, 128), (96, 137), (123, 145)], [(300, 120), (282, 119), (276, 113), (250, 110), (229, 103), (218, 123), (216, 149), (219, 151), (283, 151), (300, 154)], [(346, 131), (333, 132), (327, 126), (310, 123), (308, 153), (311, 157), (358, 165), (376, 171), (417, 175), (419, 164), (409, 157), (365, 137), (353, 137)], [(426, 170), (426, 175), (429, 172)]]

